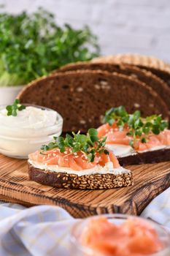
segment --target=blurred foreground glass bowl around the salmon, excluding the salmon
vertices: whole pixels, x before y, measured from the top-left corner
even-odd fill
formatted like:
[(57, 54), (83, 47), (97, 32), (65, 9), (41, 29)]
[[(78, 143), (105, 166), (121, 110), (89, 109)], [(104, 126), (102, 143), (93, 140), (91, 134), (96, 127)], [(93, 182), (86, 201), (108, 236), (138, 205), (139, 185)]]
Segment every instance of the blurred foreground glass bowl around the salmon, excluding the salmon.
[[(160, 241), (163, 243), (163, 249), (160, 252), (156, 252), (150, 255), (142, 255), (138, 254), (139, 256), (170, 256), (170, 233), (167, 231), (163, 226), (158, 225), (155, 222), (149, 221), (147, 219), (142, 219), (140, 217), (133, 217), (129, 215), (123, 214), (106, 214), (101, 215), (103, 217), (107, 217), (109, 222), (112, 222), (116, 225), (121, 225), (127, 219), (139, 219), (143, 222), (148, 223), (148, 225), (152, 226), (156, 232), (158, 233), (158, 237)], [(101, 217), (100, 216), (100, 217)], [(106, 256), (105, 254), (98, 255), (98, 252), (94, 252), (93, 249), (90, 249), (88, 246), (82, 246), (80, 237), (82, 234), (82, 230), (87, 227), (88, 222), (90, 219), (98, 218), (96, 217), (89, 217), (87, 219), (82, 219), (74, 224), (71, 230), (71, 237), (70, 237), (70, 255), (74, 256)], [(107, 254), (108, 255), (108, 254)], [(114, 256), (114, 255), (113, 255)], [(137, 256), (137, 254), (136, 254)]]

